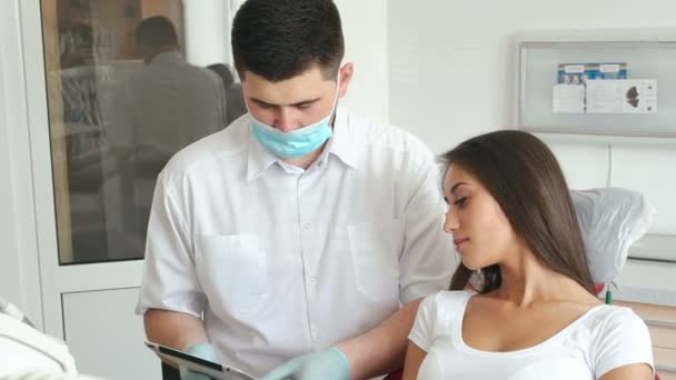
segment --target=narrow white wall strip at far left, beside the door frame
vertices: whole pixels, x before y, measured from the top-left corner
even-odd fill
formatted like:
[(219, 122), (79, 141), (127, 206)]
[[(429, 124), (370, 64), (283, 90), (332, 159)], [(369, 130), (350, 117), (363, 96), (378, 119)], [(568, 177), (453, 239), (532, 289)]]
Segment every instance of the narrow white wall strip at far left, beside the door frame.
[(19, 0), (0, 1), (0, 297), (42, 326)]

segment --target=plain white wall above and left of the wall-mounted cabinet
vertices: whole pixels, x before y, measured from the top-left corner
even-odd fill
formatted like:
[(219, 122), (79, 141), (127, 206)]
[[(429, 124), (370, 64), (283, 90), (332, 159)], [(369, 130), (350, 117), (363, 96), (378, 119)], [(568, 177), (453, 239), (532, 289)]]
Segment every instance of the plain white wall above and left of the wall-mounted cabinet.
[(510, 127), (518, 32), (674, 28), (675, 14), (673, 0), (390, 1), (390, 121), (436, 152)]

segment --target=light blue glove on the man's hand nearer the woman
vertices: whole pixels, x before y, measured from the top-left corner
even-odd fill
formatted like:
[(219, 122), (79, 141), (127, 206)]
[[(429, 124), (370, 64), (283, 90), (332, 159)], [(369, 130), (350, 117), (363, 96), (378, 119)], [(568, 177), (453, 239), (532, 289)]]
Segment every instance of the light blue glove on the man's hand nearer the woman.
[(296, 357), (275, 368), (260, 380), (349, 380), (350, 363), (339, 349)]

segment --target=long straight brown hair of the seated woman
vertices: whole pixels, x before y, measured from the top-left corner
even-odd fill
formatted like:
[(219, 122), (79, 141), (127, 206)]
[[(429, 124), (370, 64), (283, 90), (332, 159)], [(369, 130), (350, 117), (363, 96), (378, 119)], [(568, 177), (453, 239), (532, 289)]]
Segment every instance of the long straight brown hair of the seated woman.
[[(448, 168), (458, 166), (490, 192), (511, 228), (546, 267), (595, 294), (583, 234), (564, 173), (547, 146), (515, 130), (469, 139), (443, 156)], [(500, 287), (498, 264), (481, 276), (460, 263), (450, 290), (473, 286), (481, 293)]]

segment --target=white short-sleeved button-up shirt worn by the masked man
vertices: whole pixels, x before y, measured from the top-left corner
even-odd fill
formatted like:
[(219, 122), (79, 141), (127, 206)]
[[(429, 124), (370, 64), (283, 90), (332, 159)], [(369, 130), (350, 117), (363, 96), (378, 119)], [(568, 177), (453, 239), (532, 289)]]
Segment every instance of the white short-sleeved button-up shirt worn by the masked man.
[(223, 363), (258, 376), (448, 288), (439, 172), (419, 140), (339, 108), (304, 170), (267, 152), (250, 121), (160, 174), (137, 312), (203, 311)]

